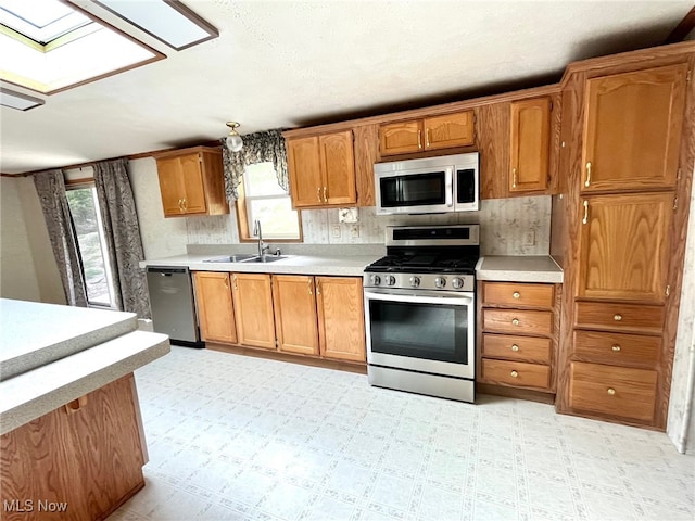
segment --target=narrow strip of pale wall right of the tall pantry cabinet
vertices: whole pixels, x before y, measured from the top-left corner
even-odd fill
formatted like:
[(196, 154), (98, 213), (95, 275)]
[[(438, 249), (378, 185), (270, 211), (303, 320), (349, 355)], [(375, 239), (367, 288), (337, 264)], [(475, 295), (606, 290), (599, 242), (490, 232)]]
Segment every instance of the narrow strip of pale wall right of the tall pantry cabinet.
[[(695, 173), (693, 173), (695, 176)], [(683, 288), (673, 355), (673, 376), (666, 432), (682, 453), (695, 453), (695, 183), (691, 194)]]

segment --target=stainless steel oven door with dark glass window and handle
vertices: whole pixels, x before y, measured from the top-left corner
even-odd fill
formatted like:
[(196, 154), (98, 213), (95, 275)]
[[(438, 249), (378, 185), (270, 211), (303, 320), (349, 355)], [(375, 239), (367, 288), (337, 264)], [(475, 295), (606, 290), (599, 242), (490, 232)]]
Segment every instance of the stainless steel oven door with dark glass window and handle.
[(370, 365), (473, 379), (472, 293), (365, 290)]

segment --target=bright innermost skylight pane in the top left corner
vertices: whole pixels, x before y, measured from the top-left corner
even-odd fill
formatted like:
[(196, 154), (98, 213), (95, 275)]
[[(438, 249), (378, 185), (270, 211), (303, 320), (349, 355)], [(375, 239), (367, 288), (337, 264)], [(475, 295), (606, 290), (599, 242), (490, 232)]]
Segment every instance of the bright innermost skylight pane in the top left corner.
[(41, 46), (91, 23), (59, 0), (0, 0), (0, 24)]

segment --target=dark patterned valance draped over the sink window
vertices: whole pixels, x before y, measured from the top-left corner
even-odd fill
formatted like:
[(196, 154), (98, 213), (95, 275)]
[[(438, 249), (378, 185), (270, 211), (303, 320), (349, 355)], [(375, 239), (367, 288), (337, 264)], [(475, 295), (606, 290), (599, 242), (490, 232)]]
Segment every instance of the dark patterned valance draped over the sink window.
[(225, 171), (225, 191), (229, 202), (239, 199), (238, 187), (241, 176), (249, 165), (271, 162), (278, 176), (278, 185), (289, 192), (287, 174), (287, 151), (285, 139), (279, 129), (255, 132), (243, 136), (243, 149), (232, 152), (227, 148), (225, 138), (222, 140), (222, 155)]

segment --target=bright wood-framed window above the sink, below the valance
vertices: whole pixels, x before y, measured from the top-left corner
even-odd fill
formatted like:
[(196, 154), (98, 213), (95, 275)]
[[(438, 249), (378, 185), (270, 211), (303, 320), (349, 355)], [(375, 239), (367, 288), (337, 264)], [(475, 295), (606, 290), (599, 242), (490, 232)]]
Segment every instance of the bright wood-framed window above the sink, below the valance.
[(264, 240), (301, 242), (300, 212), (292, 209), (290, 195), (278, 185), (273, 163), (247, 166), (242, 180), (237, 200), (240, 240), (256, 240), (253, 224), (260, 220)]

